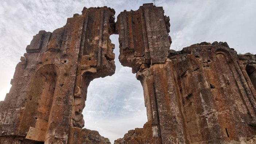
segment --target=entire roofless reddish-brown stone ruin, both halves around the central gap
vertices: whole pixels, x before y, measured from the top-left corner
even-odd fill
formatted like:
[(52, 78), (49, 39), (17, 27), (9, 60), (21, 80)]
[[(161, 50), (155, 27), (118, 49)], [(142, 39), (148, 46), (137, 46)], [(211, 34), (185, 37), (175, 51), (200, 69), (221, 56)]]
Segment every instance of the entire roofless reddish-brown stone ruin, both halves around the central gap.
[(87, 88), (132, 68), (144, 91), (148, 122), (115, 144), (255, 144), (256, 55), (237, 55), (226, 42), (170, 50), (170, 19), (143, 4), (117, 16), (84, 8), (53, 32), (39, 31), (21, 57), (0, 102), (1, 144), (110, 144), (82, 129)]

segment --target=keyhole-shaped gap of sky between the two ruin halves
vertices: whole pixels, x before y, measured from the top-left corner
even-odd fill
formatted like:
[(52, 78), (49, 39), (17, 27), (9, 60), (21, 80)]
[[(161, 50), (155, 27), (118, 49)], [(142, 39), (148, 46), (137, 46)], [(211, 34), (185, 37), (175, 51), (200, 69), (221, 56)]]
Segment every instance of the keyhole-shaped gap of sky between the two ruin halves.
[(90, 82), (83, 115), (84, 128), (98, 131), (113, 144), (129, 130), (142, 128), (147, 122), (147, 112), (140, 81), (131, 68), (119, 62), (118, 35), (110, 38), (116, 45), (115, 74)]

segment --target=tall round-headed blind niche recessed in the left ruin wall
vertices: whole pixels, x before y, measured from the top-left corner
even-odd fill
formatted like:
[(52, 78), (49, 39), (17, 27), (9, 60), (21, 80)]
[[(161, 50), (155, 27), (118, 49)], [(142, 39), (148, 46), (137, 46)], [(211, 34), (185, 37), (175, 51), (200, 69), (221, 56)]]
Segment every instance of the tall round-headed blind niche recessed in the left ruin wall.
[[(26, 139), (44, 141), (49, 128), (54, 92), (57, 83), (58, 68), (53, 64), (40, 67), (34, 76), (28, 93), (28, 102), (23, 117), (28, 133)], [(26, 111), (26, 110), (25, 110)]]

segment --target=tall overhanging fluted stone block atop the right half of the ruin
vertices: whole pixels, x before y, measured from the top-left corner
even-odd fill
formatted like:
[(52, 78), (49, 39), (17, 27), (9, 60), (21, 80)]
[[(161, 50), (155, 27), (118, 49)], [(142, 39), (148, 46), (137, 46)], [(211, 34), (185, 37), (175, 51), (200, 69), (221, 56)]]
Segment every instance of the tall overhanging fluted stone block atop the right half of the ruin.
[(163, 7), (143, 4), (137, 11), (124, 11), (117, 16), (119, 34), (119, 60), (123, 66), (140, 67), (163, 63), (170, 50), (170, 18), (164, 16)]

